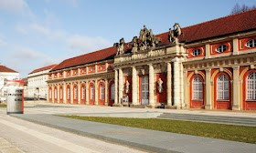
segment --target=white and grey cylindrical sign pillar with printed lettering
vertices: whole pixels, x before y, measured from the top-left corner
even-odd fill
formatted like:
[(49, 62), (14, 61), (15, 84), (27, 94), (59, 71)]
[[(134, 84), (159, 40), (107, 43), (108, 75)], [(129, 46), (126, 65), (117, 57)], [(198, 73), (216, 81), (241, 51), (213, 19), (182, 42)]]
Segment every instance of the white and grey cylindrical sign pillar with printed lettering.
[(7, 80), (7, 114), (23, 114), (23, 80)]

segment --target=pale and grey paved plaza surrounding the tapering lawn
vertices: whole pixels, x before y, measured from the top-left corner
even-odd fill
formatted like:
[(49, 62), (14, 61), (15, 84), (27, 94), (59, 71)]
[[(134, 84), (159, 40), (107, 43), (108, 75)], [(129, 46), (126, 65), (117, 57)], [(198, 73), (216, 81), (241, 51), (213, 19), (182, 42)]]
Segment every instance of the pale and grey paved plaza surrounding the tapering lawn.
[[(28, 103), (24, 115), (6, 116), (5, 108), (0, 109), (2, 116), (0, 137), (9, 139), (10, 143), (27, 152), (46, 151), (44, 148), (39, 148), (40, 145), (47, 146), (50, 152), (59, 152), (59, 150), (62, 152), (80, 152), (80, 150), (86, 150), (86, 152), (254, 152), (256, 150), (254, 144), (53, 116), (54, 114), (85, 115), (102, 112), (122, 116), (126, 114), (127, 117), (131, 117), (131, 114), (136, 114), (137, 117), (154, 117), (161, 113), (175, 112), (256, 118), (254, 113), (242, 112)], [(145, 114), (151, 115), (145, 116)], [(4, 130), (9, 132), (5, 133)], [(20, 143), (23, 137), (26, 141)]]

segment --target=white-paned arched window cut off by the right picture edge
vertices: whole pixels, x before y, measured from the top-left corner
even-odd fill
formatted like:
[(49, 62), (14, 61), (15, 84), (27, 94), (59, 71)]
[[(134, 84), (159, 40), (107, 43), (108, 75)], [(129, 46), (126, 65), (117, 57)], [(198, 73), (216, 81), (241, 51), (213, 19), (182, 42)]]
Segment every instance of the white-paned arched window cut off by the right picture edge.
[(247, 99), (256, 100), (256, 72), (252, 72), (247, 77)]

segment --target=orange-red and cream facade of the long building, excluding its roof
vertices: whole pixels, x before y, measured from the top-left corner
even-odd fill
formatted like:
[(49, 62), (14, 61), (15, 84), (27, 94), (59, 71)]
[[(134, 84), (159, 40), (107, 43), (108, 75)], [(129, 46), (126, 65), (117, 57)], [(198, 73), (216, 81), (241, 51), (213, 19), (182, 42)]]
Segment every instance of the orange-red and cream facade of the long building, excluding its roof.
[(255, 97), (248, 96), (256, 46), (247, 46), (255, 38), (255, 31), (240, 33), (50, 72), (48, 101), (121, 106), (128, 97), (130, 107), (256, 110)]

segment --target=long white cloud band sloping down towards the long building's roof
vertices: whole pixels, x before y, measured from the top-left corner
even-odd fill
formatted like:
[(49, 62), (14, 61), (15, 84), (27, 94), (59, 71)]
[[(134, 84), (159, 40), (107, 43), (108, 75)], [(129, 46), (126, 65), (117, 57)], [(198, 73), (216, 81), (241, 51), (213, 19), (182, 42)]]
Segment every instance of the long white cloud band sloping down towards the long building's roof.
[(111, 43), (101, 36), (72, 35), (62, 29), (52, 29), (46, 25), (31, 23), (27, 26), (16, 26), (16, 31), (27, 36), (41, 36), (50, 41), (59, 41), (63, 46), (68, 45), (69, 49), (76, 52), (90, 52), (98, 50)]

